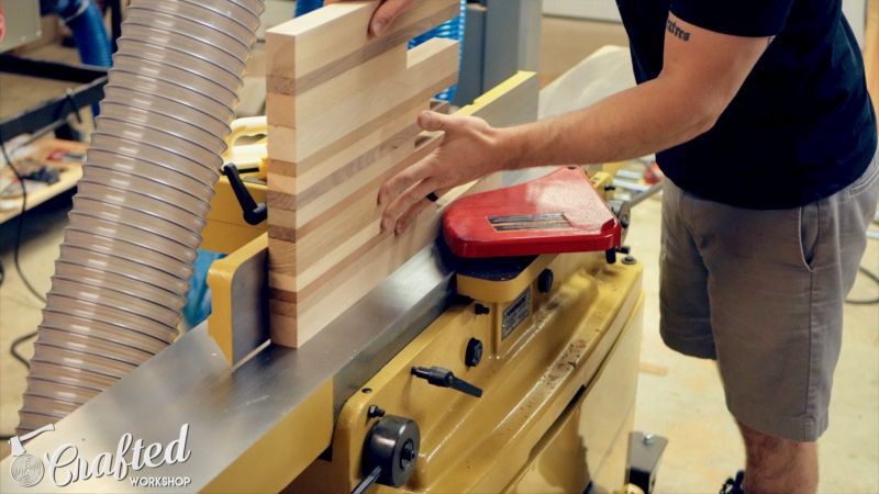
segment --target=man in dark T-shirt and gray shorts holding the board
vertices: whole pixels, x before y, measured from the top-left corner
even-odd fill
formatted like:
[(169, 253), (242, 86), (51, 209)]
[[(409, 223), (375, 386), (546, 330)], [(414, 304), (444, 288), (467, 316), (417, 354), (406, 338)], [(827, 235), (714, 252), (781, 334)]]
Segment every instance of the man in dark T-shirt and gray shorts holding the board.
[[(372, 33), (410, 3), (383, 2)], [(382, 187), (382, 229), (494, 171), (657, 153), (663, 338), (717, 360), (744, 490), (815, 492), (843, 300), (879, 199), (876, 116), (841, 0), (617, 4), (637, 87), (510, 128), (423, 113), (445, 136)]]

